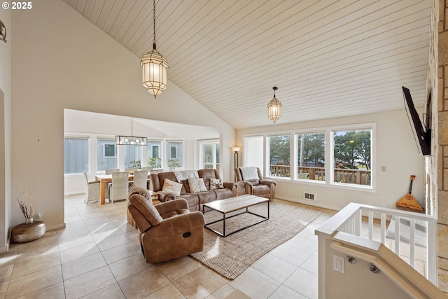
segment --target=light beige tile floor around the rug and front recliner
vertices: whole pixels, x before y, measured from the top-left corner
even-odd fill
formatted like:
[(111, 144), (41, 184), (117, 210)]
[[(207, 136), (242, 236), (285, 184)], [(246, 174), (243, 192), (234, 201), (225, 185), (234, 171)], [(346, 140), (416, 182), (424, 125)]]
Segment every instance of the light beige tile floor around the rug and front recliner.
[(145, 263), (125, 202), (66, 196), (66, 228), (0, 254), (0, 298), (225, 298), (237, 288), (251, 298), (317, 298), (314, 230), (333, 214), (323, 210), (231, 281), (188, 256)]

